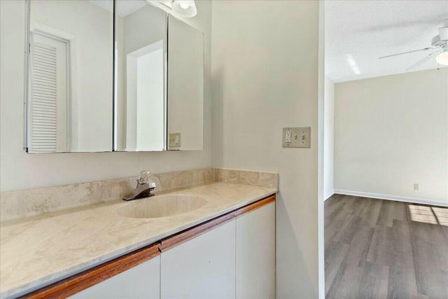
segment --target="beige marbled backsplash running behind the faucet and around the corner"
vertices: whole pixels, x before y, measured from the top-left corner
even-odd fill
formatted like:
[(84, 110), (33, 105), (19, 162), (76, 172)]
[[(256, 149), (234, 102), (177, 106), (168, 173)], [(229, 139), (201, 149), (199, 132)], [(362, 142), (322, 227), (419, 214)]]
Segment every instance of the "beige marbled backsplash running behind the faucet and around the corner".
[[(119, 200), (137, 186), (138, 176), (0, 193), (0, 221), (9, 221), (89, 204)], [(155, 193), (223, 181), (278, 188), (278, 174), (251, 170), (202, 168), (153, 174)]]

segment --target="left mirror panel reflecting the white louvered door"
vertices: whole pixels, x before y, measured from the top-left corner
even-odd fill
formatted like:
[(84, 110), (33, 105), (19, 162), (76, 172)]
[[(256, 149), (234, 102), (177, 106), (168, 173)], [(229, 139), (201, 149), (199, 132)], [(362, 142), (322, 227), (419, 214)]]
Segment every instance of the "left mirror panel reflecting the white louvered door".
[(27, 151), (112, 151), (113, 0), (30, 0)]

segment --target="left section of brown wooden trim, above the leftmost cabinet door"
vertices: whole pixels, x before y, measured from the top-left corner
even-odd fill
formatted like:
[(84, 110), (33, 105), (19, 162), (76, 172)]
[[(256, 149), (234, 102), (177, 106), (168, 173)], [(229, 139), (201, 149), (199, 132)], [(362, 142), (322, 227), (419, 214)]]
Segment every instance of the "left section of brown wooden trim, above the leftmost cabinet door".
[(66, 298), (160, 255), (159, 243), (120, 256), (20, 298)]

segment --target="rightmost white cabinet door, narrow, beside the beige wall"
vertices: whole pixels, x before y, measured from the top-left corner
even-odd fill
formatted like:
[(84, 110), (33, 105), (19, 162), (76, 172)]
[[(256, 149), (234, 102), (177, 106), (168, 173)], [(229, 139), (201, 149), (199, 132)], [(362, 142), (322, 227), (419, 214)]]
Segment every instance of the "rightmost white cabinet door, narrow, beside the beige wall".
[(237, 299), (275, 298), (275, 202), (237, 223)]

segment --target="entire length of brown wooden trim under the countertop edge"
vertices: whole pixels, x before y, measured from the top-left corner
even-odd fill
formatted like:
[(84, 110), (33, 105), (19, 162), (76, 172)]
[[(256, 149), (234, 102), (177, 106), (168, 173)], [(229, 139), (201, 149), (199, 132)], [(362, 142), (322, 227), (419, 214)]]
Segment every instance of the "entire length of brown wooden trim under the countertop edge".
[(167, 239), (164, 239), (161, 242), (156, 242), (144, 248), (138, 249), (137, 251), (132, 251), (131, 253), (125, 254), (125, 256), (120, 256), (110, 260), (109, 262), (97, 265), (92, 269), (85, 270), (73, 275), (72, 277), (58, 281), (55, 284), (50, 284), (49, 286), (40, 288), (34, 292), (28, 293), (27, 295), (23, 295), (20, 298), (67, 298), (85, 290), (86, 288), (90, 288), (90, 286), (99, 284), (110, 277), (144, 263), (146, 260), (151, 260), (151, 258), (160, 255), (161, 252), (172, 249), (175, 246), (202, 235), (217, 226), (223, 225), (224, 223), (237, 218), (238, 216), (247, 214), (255, 209), (259, 209), (266, 204), (270, 204), (275, 201), (275, 198), (275, 194), (269, 195), (269, 197), (265, 197), (262, 200), (252, 202), (251, 204), (241, 207), (235, 211), (230, 211), (228, 214), (218, 216), (193, 228), (188, 228), (188, 230), (180, 232), (177, 235), (167, 237)]

